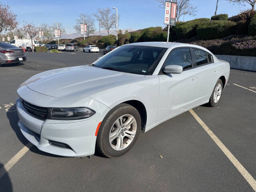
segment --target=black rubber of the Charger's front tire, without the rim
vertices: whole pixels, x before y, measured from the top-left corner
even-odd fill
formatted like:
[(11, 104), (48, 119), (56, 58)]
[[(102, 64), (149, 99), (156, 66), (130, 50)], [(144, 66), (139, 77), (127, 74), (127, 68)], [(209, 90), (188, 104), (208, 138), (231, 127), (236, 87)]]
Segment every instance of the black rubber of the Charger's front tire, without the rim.
[[(134, 139), (132, 140), (132, 143), (128, 147), (126, 147), (124, 150), (117, 151), (117, 150), (114, 150), (110, 146), (109, 134), (110, 134), (110, 130), (111, 130), (114, 122), (120, 116), (125, 115), (125, 114), (130, 114), (130, 115), (134, 116), (136, 123), (137, 123), (137, 130), (136, 130)], [(131, 106), (129, 104), (120, 104), (120, 105), (116, 106), (115, 108), (110, 110), (110, 112), (106, 115), (106, 117), (104, 118), (104, 120), (102, 121), (102, 124), (100, 126), (100, 130), (99, 130), (98, 136), (97, 136), (97, 144), (98, 144), (98, 148), (100, 149), (100, 152), (102, 152), (102, 154), (104, 154), (105, 156), (110, 157), (110, 158), (121, 156), (121, 155), (125, 154), (135, 144), (135, 142), (138, 138), (138, 135), (140, 133), (140, 128), (141, 128), (140, 114), (133, 106)]]

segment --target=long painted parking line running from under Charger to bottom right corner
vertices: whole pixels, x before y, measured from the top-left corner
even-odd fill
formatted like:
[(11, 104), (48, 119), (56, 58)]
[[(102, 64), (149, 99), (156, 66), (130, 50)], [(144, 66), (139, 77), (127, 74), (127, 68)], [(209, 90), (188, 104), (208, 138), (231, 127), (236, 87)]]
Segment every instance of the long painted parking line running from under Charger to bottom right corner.
[(250, 173), (240, 164), (236, 157), (226, 148), (226, 146), (218, 139), (218, 137), (208, 128), (208, 126), (198, 117), (198, 115), (190, 109), (189, 112), (196, 119), (196, 121), (204, 128), (207, 134), (214, 140), (217, 146), (222, 150), (222, 152), (229, 158), (232, 164), (237, 168), (237, 170), (242, 174), (246, 181), (250, 184), (254, 191), (256, 191), (256, 181), (250, 175)]

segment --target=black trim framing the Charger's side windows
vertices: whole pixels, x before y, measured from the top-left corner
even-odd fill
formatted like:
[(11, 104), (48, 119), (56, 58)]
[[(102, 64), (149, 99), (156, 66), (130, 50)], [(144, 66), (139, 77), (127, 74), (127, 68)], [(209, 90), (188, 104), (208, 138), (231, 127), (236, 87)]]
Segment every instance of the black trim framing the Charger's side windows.
[[(191, 69), (194, 69), (194, 68), (198, 68), (198, 67), (201, 67), (201, 66), (205, 66), (205, 65), (214, 63), (214, 58), (213, 58), (212, 54), (210, 54), (210, 53), (209, 53), (208, 51), (206, 51), (206, 50), (203, 50), (203, 49), (201, 49), (201, 48), (196, 48), (196, 47), (190, 47), (190, 46), (176, 47), (176, 48), (172, 49), (172, 50), (170, 51), (170, 53), (168, 54), (168, 56), (166, 57), (164, 63), (162, 64), (162, 67), (161, 67), (160, 71), (158, 72), (158, 75), (165, 75), (165, 74), (162, 72), (163, 66), (164, 66), (164, 64), (166, 63), (166, 60), (167, 60), (167, 59), (169, 58), (169, 56), (172, 54), (172, 52), (174, 52), (175, 50), (178, 50), (178, 49), (185, 49), (185, 48), (188, 48), (189, 51), (190, 51), (191, 58), (192, 58), (192, 67), (191, 67), (191, 68), (184, 69), (184, 70), (182, 70), (182, 72), (183, 72), (183, 71), (191, 70)], [(201, 51), (204, 51), (204, 52), (210, 54), (210, 56), (212, 56), (212, 62), (196, 66), (196, 58), (195, 58), (195, 55), (192, 54), (192, 53), (193, 53), (193, 52), (192, 52), (192, 49), (201, 50)], [(208, 58), (208, 56), (207, 56), (207, 58)], [(209, 60), (208, 60), (208, 61), (209, 61)]]

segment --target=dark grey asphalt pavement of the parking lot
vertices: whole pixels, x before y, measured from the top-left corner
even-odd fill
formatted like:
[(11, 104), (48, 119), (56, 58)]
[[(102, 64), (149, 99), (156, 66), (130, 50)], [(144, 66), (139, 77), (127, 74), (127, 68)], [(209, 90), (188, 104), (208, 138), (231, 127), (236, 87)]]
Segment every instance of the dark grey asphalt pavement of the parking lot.
[[(252, 176), (249, 179), (190, 112), (140, 133), (134, 147), (115, 159), (98, 152), (90, 159), (66, 158), (30, 147), (17, 125), (18, 86), (40, 72), (91, 64), (102, 55), (27, 53), (24, 63), (0, 66), (1, 192), (254, 191), (248, 180), (256, 179), (256, 72), (231, 69), (219, 106), (193, 109)], [(19, 153), (26, 145), (29, 150)], [(10, 162), (14, 156), (15, 164)]]

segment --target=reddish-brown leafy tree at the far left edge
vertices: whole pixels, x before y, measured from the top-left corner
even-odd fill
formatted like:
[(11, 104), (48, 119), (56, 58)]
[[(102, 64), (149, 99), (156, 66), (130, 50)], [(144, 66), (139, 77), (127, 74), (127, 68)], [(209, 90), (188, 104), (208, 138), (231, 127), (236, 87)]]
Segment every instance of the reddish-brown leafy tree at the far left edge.
[(0, 34), (2, 31), (11, 31), (16, 28), (18, 25), (16, 16), (8, 5), (0, 4)]

